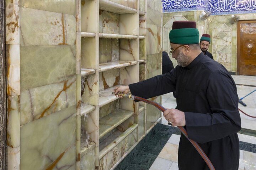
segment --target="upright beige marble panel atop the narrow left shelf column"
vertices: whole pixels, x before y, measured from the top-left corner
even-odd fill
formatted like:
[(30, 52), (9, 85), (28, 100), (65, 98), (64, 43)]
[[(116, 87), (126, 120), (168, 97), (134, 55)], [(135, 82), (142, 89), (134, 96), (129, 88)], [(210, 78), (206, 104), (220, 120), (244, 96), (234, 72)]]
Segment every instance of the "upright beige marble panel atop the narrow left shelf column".
[(81, 1), (81, 32), (97, 33), (97, 1)]

